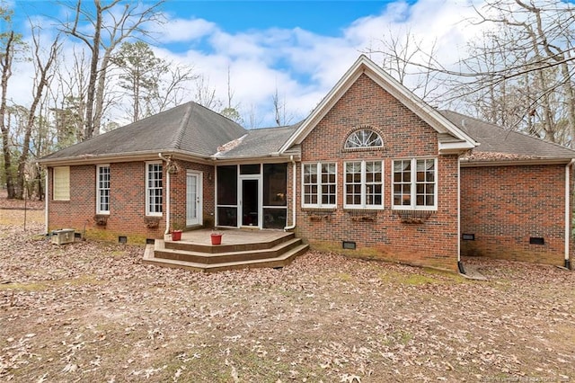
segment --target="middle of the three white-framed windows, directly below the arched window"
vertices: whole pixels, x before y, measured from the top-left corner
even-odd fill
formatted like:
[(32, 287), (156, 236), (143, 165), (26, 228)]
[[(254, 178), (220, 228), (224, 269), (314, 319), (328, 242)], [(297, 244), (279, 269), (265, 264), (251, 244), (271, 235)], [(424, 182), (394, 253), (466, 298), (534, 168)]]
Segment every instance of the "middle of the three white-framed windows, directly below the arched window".
[(345, 164), (345, 208), (384, 207), (384, 162), (354, 161)]

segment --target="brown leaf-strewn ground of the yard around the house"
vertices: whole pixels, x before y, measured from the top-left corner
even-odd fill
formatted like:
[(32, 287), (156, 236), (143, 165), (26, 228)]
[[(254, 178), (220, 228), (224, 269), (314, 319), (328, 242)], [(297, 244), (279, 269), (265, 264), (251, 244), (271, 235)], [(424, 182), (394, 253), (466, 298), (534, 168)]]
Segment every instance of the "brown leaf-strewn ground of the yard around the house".
[(575, 380), (575, 272), (475, 258), (489, 281), (469, 281), (308, 252), (202, 274), (51, 245), (31, 207), (26, 231), (0, 209), (2, 381)]

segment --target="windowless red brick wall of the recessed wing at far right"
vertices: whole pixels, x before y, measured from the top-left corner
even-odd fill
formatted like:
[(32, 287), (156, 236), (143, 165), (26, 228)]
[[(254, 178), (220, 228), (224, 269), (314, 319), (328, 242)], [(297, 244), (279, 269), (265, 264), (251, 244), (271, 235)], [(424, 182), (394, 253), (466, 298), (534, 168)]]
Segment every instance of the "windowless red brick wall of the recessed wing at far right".
[(461, 210), (463, 255), (564, 264), (564, 165), (464, 167)]

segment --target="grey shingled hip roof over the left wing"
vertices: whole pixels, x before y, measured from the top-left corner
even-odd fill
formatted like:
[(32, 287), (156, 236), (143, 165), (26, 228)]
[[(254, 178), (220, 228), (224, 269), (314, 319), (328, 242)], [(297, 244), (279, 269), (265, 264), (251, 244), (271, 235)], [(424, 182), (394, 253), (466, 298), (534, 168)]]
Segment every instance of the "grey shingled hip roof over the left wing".
[(182, 153), (208, 159), (223, 143), (245, 135), (233, 120), (196, 102), (186, 102), (144, 120), (87, 139), (40, 159), (40, 163), (88, 158), (126, 158)]

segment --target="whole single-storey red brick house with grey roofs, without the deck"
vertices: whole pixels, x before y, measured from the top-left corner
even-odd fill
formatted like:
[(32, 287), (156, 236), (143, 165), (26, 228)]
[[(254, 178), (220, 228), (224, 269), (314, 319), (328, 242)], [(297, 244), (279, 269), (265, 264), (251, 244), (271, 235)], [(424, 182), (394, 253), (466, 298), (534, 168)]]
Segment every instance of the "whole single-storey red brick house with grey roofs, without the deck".
[(361, 56), (302, 122), (246, 130), (188, 102), (40, 160), (46, 230), (144, 243), (173, 227), (293, 231), (450, 271), (570, 266), (575, 151), (437, 111)]

